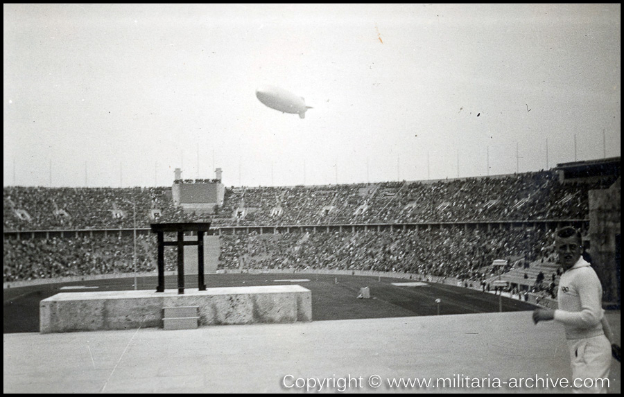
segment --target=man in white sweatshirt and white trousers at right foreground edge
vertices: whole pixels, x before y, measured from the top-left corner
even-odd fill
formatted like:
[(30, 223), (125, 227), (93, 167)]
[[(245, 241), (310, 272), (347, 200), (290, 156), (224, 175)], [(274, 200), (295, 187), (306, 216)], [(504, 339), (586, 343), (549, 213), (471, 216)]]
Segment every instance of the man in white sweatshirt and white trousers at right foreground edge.
[(554, 319), (564, 325), (575, 393), (606, 393), (611, 342), (603, 329), (603, 287), (581, 256), (582, 239), (575, 228), (557, 230), (555, 249), (564, 270), (557, 293), (559, 309), (535, 309), (533, 321)]

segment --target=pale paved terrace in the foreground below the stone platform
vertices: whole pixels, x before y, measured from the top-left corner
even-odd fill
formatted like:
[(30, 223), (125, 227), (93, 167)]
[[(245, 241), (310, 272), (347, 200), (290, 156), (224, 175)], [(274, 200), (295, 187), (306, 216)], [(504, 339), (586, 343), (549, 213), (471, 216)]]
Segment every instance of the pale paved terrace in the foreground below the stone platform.
[[(610, 312), (609, 319), (619, 339), (620, 312)], [(533, 381), (529, 387), (510, 387), (514, 378), (555, 382), (571, 376), (563, 328), (535, 326), (528, 311), (197, 330), (13, 333), (3, 339), (5, 393), (280, 393), (306, 391), (307, 378), (318, 378), (307, 385), (322, 392), (571, 391), (552, 384), (532, 387)], [(345, 384), (341, 378), (349, 376)], [(388, 378), (431, 378), (432, 384), (390, 387)], [(436, 387), (436, 378), (449, 378), (446, 387), (441, 382)], [(473, 378), (479, 378), (478, 385)], [(619, 393), (616, 361), (610, 378), (609, 391)], [(373, 387), (378, 380), (381, 386)]]

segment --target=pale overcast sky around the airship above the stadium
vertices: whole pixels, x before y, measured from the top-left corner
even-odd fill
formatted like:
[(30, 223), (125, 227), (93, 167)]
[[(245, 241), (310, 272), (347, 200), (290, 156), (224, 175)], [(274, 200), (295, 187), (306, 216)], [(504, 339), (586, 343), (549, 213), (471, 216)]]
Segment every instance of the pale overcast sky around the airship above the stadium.
[[(174, 168), (350, 184), (620, 156), (619, 4), (3, 9), (4, 186), (168, 186)], [(263, 85), (313, 109), (270, 109)]]

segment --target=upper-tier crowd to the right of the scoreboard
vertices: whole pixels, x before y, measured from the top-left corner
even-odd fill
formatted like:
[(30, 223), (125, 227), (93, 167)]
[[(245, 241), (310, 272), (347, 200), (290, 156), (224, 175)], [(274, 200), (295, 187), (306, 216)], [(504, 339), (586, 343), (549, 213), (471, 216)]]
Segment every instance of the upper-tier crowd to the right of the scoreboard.
[(215, 225), (376, 224), (587, 219), (588, 191), (552, 172), (436, 182), (236, 188)]

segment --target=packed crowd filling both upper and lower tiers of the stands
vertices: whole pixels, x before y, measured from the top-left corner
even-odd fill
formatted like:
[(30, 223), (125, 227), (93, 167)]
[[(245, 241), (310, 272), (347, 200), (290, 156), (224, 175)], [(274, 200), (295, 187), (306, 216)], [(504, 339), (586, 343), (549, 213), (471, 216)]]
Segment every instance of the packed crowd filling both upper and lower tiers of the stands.
[[(173, 204), (171, 188), (5, 187), (4, 231), (132, 229), (194, 221), (219, 227), (586, 220), (588, 191), (610, 183), (560, 184), (547, 171), (433, 182), (227, 188), (214, 215), (184, 213)], [(139, 270), (153, 271), (155, 237), (140, 240)], [(495, 258), (546, 256), (547, 240), (539, 228), (224, 234), (220, 266), (417, 272), (476, 281), (492, 271)], [(5, 282), (128, 272), (132, 238), (5, 237), (4, 263)]]

